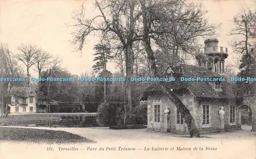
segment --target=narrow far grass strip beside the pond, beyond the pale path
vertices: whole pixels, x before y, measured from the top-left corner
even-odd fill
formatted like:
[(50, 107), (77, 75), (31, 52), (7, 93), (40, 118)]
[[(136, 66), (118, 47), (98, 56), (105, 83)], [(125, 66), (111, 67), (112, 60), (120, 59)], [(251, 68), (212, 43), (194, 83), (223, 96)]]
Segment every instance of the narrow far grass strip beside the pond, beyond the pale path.
[[(52, 120), (60, 119), (58, 117), (47, 117), (39, 115), (10, 115), (6, 118), (0, 117), (0, 125), (9, 125), (8, 122), (17, 122), (16, 124), (27, 124), (36, 122), (51, 122)], [(13, 124), (12, 124), (13, 125)]]

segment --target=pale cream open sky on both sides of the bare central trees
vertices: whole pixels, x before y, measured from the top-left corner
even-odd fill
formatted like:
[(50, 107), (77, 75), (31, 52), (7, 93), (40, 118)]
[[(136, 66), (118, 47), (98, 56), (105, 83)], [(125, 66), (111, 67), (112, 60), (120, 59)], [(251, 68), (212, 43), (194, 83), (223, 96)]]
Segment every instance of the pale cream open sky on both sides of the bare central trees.
[[(252, 0), (190, 0), (195, 3), (202, 3), (208, 11), (206, 16), (209, 22), (220, 24), (218, 30), (219, 46), (228, 48), (228, 61), (236, 64), (237, 55), (230, 48), (232, 38), (228, 36), (233, 27), (232, 19), (239, 14), (242, 9), (254, 10)], [(98, 38), (90, 36), (82, 52), (74, 50), (72, 15), (74, 10), (81, 8), (82, 3), (86, 6), (85, 16), (92, 18), (99, 14), (93, 6), (91, 0), (0, 0), (0, 42), (9, 46), (14, 54), (20, 44), (37, 45), (41, 49), (48, 51), (53, 57), (62, 59), (62, 66), (72, 74), (90, 72), (93, 62), (93, 46), (97, 44)], [(118, 71), (113, 63), (107, 68)], [(31, 68), (32, 76), (36, 72)]]

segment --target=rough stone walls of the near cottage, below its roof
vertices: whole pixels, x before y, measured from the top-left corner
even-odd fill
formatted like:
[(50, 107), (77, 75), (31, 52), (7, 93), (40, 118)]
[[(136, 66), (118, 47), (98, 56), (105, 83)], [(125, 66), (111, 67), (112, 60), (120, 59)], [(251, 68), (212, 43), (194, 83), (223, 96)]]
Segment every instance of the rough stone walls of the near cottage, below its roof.
[[(233, 99), (203, 99), (196, 98), (193, 94), (183, 94), (179, 96), (182, 102), (188, 108), (190, 114), (195, 119), (195, 124), (199, 128), (202, 134), (214, 133), (220, 131), (219, 124), (219, 110), (221, 106), (224, 106), (224, 128), (225, 130), (238, 129), (239, 128), (239, 105), (236, 100)], [(210, 105), (210, 124), (202, 124), (202, 104)], [(148, 96), (147, 100), (147, 126), (149, 130), (154, 130), (154, 104), (160, 104), (160, 131), (177, 133), (176, 131), (176, 115), (177, 108), (166, 96), (161, 94), (153, 94)], [(235, 108), (235, 124), (230, 124), (230, 105), (236, 105)], [(164, 110), (169, 109), (169, 113), (166, 115)], [(241, 126), (241, 124), (240, 124)], [(185, 134), (188, 133), (187, 125), (185, 124)]]

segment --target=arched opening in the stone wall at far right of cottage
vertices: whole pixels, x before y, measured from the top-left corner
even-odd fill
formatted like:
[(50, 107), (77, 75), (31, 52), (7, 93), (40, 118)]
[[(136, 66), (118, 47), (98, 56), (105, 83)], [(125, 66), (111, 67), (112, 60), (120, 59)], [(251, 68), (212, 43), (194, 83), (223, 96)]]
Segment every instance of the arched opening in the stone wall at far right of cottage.
[(241, 128), (244, 131), (251, 131), (252, 129), (252, 111), (248, 105), (240, 107), (241, 111)]

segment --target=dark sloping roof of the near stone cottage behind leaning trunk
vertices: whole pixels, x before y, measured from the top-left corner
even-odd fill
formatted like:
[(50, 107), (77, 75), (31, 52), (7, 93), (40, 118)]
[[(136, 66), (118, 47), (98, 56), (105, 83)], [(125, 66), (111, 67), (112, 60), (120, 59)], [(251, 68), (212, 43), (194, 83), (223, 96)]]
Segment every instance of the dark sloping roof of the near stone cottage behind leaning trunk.
[[(192, 66), (192, 65), (181, 65), (178, 67), (172, 67), (174, 72), (179, 73), (180, 76), (184, 77), (221, 77), (221, 75), (216, 74), (204, 67)], [(236, 90), (228, 82), (221, 82), (222, 91), (215, 91), (210, 82), (181, 82), (180, 78), (176, 77), (175, 82), (162, 82), (167, 89), (181, 90), (189, 89), (196, 97), (207, 97), (207, 98), (237, 98)], [(149, 92), (160, 92), (158, 86), (152, 83), (149, 87), (145, 89), (140, 97), (140, 100), (147, 98)]]

